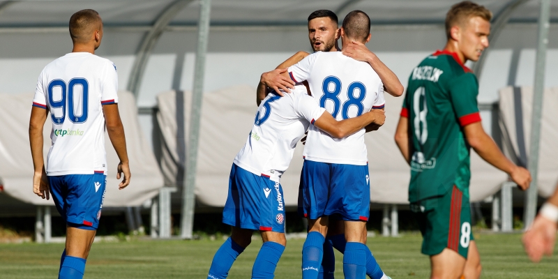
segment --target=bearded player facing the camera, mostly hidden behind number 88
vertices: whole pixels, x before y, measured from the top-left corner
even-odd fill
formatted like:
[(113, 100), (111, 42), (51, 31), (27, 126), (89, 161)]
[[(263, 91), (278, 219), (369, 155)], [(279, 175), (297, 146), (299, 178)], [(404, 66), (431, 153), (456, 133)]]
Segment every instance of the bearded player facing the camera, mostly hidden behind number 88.
[[(363, 27), (370, 27), (370, 22), (361, 21), (356, 23)], [(315, 52), (338, 51), (339, 47), (336, 42), (340, 35), (339, 33), (340, 29), (338, 29), (337, 16), (330, 10), (317, 10), (308, 17), (308, 35), (310, 43), (312, 44), (312, 49)], [(399, 82), (398, 77), (389, 68), (387, 68), (387, 66), (382, 63), (382, 61), (380, 61), (374, 53), (370, 52), (370, 50), (368, 50), (363, 43), (353, 41), (349, 45), (344, 45), (342, 53), (356, 60), (368, 62), (376, 72), (373, 73), (373, 75), (379, 75), (380, 79), (384, 83), (384, 91), (395, 97), (402, 95), (403, 86)], [(258, 85), (257, 102), (266, 96), (266, 89), (270, 90), (270, 88), (280, 88), (287, 91), (288, 88), (292, 88), (294, 81), (292, 81), (288, 75), (282, 76), (280, 74), (286, 73), (287, 67), (301, 61), (301, 59), (306, 56), (308, 56), (308, 53), (298, 52), (278, 66), (276, 70), (262, 74), (262, 78)], [(368, 133), (372, 130), (376, 130), (377, 128), (378, 127), (370, 125), (366, 127), (366, 132)], [(303, 193), (299, 193), (299, 206), (302, 206), (302, 195)], [(301, 208), (299, 208), (299, 211), (300, 209)], [(343, 222), (344, 221), (342, 218), (339, 218), (338, 214), (329, 216), (329, 226), (326, 241), (324, 242), (323, 247), (322, 266), (319, 268), (318, 278), (320, 279), (333, 278), (333, 273), (335, 271), (335, 256), (333, 254), (332, 246), (340, 252), (345, 252), (347, 241), (345, 240), (345, 226)], [(363, 227), (363, 233), (366, 233), (365, 227)], [(382, 269), (379, 268), (379, 265), (373, 255), (370, 251), (366, 251), (366, 254), (366, 274), (372, 279), (383, 278), (385, 274)], [(306, 269), (306, 273), (312, 273), (313, 271), (314, 269)]]

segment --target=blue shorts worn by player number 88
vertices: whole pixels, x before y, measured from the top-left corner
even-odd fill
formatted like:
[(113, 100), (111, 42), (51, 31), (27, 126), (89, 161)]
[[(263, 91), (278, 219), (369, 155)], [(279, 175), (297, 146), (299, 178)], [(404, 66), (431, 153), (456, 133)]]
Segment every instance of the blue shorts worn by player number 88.
[(304, 160), (299, 186), (299, 213), (310, 219), (339, 214), (342, 220), (368, 221), (368, 165)]

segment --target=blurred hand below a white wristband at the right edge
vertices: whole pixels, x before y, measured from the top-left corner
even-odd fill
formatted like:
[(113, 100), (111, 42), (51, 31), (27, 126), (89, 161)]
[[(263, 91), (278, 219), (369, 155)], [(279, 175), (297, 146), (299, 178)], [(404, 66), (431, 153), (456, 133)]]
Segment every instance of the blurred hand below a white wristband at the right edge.
[(523, 247), (533, 262), (538, 262), (544, 255), (552, 255), (556, 242), (557, 224), (539, 214), (533, 225), (523, 234)]

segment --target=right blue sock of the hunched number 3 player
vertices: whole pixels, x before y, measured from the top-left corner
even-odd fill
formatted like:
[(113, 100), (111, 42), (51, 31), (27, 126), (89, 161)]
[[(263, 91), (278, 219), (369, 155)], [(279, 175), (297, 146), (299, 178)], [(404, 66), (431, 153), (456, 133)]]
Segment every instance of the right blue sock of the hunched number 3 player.
[(285, 246), (279, 243), (267, 241), (257, 253), (254, 266), (252, 267), (252, 279), (271, 279), (277, 267), (279, 259), (285, 251)]

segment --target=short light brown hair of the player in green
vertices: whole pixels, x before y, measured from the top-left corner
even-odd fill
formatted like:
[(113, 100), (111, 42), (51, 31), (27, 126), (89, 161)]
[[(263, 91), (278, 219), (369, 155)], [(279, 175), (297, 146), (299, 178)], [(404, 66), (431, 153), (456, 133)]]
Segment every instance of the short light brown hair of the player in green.
[(469, 17), (481, 17), (483, 20), (490, 22), (492, 20), (492, 12), (484, 6), (473, 3), (472, 1), (462, 1), (451, 6), (446, 14), (446, 36), (451, 38), (451, 27), (462, 24)]

